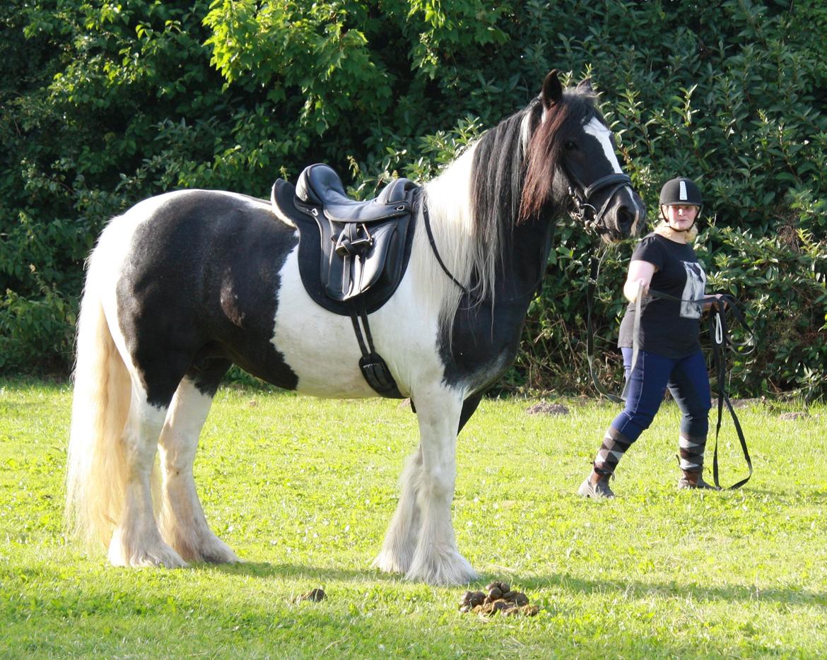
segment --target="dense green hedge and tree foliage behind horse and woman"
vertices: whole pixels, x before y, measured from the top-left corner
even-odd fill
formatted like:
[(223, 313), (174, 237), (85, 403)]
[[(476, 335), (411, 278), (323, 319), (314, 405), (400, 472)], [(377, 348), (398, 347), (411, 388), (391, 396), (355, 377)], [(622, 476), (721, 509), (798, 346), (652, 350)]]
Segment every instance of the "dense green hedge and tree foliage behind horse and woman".
[[(349, 172), (362, 197), (394, 175), (428, 179), (553, 67), (602, 90), (650, 218), (663, 181), (700, 183), (712, 281), (773, 344), (761, 361), (739, 359), (734, 386), (825, 395), (825, 30), (818, 0), (10, 0), (0, 326), (13, 356), (0, 369), (69, 366), (84, 256), (139, 199), (184, 187), (262, 196), (318, 161)], [(507, 386), (589, 386), (590, 238), (571, 222), (558, 238)], [(765, 253), (782, 266), (761, 285)], [(610, 252), (601, 276), (607, 384), (619, 381), (628, 256)]]

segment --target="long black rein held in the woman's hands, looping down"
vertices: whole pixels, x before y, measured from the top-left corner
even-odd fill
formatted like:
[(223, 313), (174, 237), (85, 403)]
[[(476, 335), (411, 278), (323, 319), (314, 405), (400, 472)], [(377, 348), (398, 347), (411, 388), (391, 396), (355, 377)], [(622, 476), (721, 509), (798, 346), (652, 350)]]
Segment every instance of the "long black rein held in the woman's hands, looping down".
[[(594, 352), (595, 352), (595, 331), (594, 326), (591, 321), (591, 313), (594, 308), (594, 297), (595, 297), (595, 290), (597, 287), (597, 276), (600, 275), (600, 260), (595, 259), (595, 256), (591, 256), (591, 267), (590, 267), (590, 275), (589, 275), (589, 285), (586, 292), (586, 326), (587, 326), (587, 335), (586, 335), (586, 354), (589, 361), (589, 373), (591, 376), (591, 380), (595, 385), (595, 389), (600, 393), (600, 395), (605, 396), (610, 401), (613, 401), (617, 404), (624, 404), (626, 401), (626, 395), (629, 391), (629, 379), (626, 379), (623, 392), (620, 396), (613, 395), (608, 390), (606, 390), (602, 385), (600, 385), (600, 381), (597, 379), (597, 375), (594, 369)], [(726, 318), (724, 317), (724, 310), (723, 304), (726, 304), (729, 309), (734, 314), (734, 318), (745, 328), (751, 336), (754, 337), (753, 331), (749, 328), (746, 318), (744, 318), (743, 313), (740, 309), (739, 300), (736, 299), (734, 296), (729, 294), (723, 294), (720, 298), (716, 298), (715, 296), (704, 296), (703, 298), (699, 298), (696, 300), (684, 300), (681, 298), (676, 298), (676, 296), (670, 294), (664, 294), (661, 291), (656, 291), (654, 289), (648, 290), (648, 295), (652, 298), (660, 298), (664, 300), (672, 300), (673, 302), (678, 303), (694, 303), (694, 304), (711, 304), (710, 307), (710, 337), (712, 339), (712, 356), (713, 356), (713, 363), (715, 366), (715, 375), (717, 380), (717, 394), (718, 394), (718, 421), (715, 424), (715, 452), (712, 457), (712, 476), (715, 481), (715, 487), (721, 488), (718, 478), (718, 436), (721, 430), (721, 418), (723, 417), (724, 413), (724, 403), (727, 405), (727, 409), (729, 409), (729, 415), (732, 417), (732, 421), (735, 427), (736, 433), (738, 433), (738, 439), (741, 443), (741, 450), (743, 451), (743, 458), (744, 461), (747, 463), (747, 467), (749, 470), (748, 475), (743, 478), (741, 481), (737, 481), (733, 485), (730, 485), (726, 490), (736, 490), (740, 488), (742, 485), (749, 481), (750, 477), (753, 476), (753, 462), (752, 459), (749, 457), (749, 450), (747, 448), (747, 440), (743, 436), (743, 430), (741, 428), (741, 423), (739, 422), (738, 415), (735, 414), (735, 410), (733, 408), (732, 402), (729, 400), (729, 396), (726, 392), (726, 380), (727, 380), (727, 366), (726, 366), (726, 356), (724, 353), (724, 349), (729, 347), (729, 350), (734, 351), (735, 347), (745, 347), (748, 346), (749, 342), (733, 342), (732, 339), (729, 338), (729, 332), (727, 331), (726, 326)], [(639, 352), (639, 342), (640, 342), (640, 317), (641, 317), (641, 301), (643, 300), (643, 286), (638, 288), (638, 296), (635, 299), (634, 303), (634, 329), (633, 329), (633, 342), (632, 342), (632, 365), (629, 369), (629, 374), (631, 375), (632, 371), (634, 371), (634, 367), (638, 362), (638, 352)], [(754, 341), (753, 341), (753, 348), (750, 352), (754, 349)]]

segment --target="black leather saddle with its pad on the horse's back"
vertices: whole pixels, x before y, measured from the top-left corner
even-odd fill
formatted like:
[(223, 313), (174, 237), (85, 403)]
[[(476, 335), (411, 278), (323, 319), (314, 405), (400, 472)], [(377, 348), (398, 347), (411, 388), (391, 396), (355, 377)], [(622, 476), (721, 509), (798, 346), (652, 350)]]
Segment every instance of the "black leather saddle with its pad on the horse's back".
[(331, 312), (372, 313), (394, 294), (408, 265), (418, 186), (394, 179), (375, 199), (347, 197), (328, 165), (309, 165), (295, 186), (273, 185), (276, 213), (299, 229), (299, 273), (310, 297)]

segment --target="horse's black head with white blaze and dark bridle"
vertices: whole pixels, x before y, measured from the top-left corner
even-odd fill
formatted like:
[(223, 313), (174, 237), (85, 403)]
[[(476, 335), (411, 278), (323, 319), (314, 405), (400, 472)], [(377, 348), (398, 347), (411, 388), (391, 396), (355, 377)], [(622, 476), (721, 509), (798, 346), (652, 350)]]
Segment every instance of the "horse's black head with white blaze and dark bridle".
[(521, 218), (548, 203), (570, 212), (605, 242), (634, 235), (646, 208), (620, 169), (614, 136), (595, 106), (590, 81), (564, 91), (557, 70), (546, 76), (526, 146)]

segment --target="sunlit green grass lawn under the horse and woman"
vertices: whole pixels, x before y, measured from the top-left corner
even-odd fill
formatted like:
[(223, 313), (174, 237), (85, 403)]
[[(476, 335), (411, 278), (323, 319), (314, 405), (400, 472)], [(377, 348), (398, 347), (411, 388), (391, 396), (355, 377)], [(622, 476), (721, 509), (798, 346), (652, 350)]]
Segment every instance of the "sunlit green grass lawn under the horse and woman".
[[(755, 476), (677, 492), (667, 404), (624, 458), (613, 501), (581, 500), (616, 408), (485, 401), (457, 447), (454, 522), (481, 573), (540, 614), (484, 621), (464, 588), (370, 569), (415, 417), (398, 402), (222, 390), (196, 482), (246, 563), (108, 567), (61, 530), (71, 392), (0, 381), (0, 657), (813, 658), (827, 654), (827, 409), (739, 410)], [(818, 415), (818, 416), (815, 416)], [(729, 422), (723, 481), (743, 476)], [(295, 598), (322, 586), (327, 600)]]

